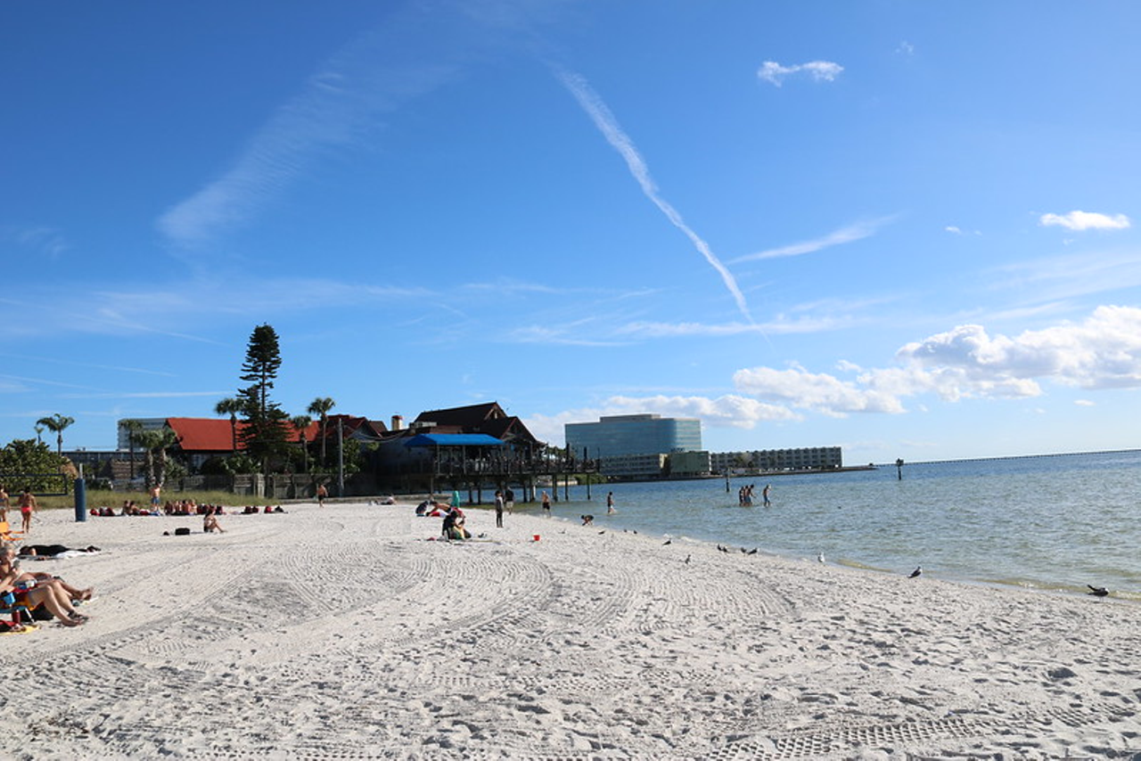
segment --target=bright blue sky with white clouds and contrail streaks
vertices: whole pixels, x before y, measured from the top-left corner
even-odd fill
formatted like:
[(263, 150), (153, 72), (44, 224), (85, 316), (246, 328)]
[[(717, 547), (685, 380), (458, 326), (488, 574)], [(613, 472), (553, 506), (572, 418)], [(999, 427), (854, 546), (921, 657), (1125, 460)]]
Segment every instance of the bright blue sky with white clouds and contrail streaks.
[(1141, 447), (1141, 5), (0, 6), (0, 443), (499, 402), (845, 463)]

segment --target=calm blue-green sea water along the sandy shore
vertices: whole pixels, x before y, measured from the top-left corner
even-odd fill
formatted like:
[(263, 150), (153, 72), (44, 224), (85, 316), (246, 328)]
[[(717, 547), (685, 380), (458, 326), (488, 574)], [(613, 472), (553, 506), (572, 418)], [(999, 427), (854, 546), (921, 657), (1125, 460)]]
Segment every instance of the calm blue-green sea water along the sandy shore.
[[(754, 507), (737, 489), (755, 484)], [(772, 505), (760, 507), (771, 484)], [(1141, 451), (572, 487), (557, 516), (788, 557), (1141, 600)], [(613, 491), (617, 515), (606, 515)], [(560, 489), (561, 499), (563, 492)], [(739, 550), (738, 550), (739, 551)]]

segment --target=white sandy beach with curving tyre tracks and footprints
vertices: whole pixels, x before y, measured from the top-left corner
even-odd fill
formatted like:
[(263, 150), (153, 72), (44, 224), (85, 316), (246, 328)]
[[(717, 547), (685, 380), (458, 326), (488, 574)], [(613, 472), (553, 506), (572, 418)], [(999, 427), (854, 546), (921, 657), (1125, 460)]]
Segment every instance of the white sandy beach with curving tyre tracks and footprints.
[[(411, 507), (41, 513), (86, 626), (0, 637), (2, 758), (1141, 752), (1141, 608)], [(191, 536), (162, 536), (191, 526)], [(539, 542), (531, 541), (541, 534)], [(690, 562), (685, 562), (686, 557)]]

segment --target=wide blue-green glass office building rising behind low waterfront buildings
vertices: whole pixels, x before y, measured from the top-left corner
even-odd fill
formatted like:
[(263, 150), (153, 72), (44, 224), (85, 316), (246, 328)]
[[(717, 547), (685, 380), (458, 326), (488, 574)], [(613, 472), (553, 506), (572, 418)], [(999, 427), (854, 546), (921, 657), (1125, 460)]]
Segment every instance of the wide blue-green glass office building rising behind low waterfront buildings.
[(567, 447), (590, 460), (629, 454), (669, 454), (702, 448), (702, 421), (655, 414), (599, 418), (597, 423), (567, 423)]

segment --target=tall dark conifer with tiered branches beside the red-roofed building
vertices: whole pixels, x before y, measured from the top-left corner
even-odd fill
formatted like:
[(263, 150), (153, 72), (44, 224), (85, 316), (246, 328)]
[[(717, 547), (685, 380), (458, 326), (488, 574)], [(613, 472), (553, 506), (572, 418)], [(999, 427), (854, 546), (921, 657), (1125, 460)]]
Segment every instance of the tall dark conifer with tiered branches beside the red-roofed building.
[(269, 471), (272, 460), (286, 453), (286, 422), (289, 415), (269, 399), (277, 370), (281, 367), (277, 332), (269, 325), (258, 325), (250, 335), (242, 364), (242, 380), (250, 383), (238, 389), (245, 428), (238, 435), (246, 454), (261, 463), (261, 471)]

